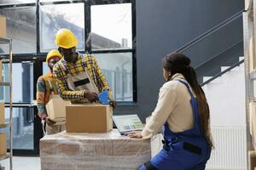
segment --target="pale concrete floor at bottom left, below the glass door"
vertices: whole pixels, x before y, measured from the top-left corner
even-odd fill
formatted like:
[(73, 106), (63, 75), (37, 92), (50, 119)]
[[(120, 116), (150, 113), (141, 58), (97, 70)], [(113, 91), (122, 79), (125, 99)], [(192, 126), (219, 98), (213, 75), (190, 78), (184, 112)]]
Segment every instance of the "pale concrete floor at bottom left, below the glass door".
[[(9, 170), (9, 159), (0, 161), (5, 170)], [(40, 157), (14, 156), (13, 170), (41, 170)]]

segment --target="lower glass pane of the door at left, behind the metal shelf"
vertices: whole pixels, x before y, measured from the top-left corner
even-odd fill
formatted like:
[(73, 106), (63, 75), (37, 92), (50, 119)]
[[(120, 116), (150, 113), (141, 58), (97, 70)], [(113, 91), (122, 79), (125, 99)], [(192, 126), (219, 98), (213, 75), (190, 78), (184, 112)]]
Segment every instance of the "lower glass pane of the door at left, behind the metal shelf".
[[(33, 150), (33, 116), (32, 108), (13, 108), (13, 148), (19, 150)], [(5, 108), (5, 122), (9, 122), (9, 107)], [(7, 134), (9, 148), (9, 128), (0, 129), (0, 133)]]

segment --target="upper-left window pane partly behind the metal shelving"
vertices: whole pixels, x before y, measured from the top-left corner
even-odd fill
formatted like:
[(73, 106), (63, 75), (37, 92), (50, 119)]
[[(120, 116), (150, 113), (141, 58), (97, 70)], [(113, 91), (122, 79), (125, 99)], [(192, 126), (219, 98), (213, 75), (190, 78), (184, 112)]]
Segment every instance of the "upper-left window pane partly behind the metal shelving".
[[(7, 37), (13, 39), (13, 52), (15, 54), (35, 53), (36, 42), (36, 8), (1, 8), (0, 15), (6, 17)], [(9, 53), (9, 48), (2, 48)], [(1, 49), (0, 49), (1, 51)]]

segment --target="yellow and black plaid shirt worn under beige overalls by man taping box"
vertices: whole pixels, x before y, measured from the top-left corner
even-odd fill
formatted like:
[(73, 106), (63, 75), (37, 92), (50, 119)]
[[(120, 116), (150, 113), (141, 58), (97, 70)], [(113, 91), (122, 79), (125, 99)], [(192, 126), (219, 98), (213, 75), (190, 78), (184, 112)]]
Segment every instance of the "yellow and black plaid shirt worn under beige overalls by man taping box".
[[(63, 68), (63, 65), (65, 68)], [(84, 68), (84, 65), (86, 65), (86, 68)], [(67, 74), (70, 74), (71, 76), (78, 75), (80, 72), (84, 71), (84, 69), (87, 69), (89, 72), (90, 77), (92, 77), (99, 92), (108, 89), (109, 99), (112, 99), (112, 93), (108, 86), (108, 82), (102, 74), (102, 70), (98, 66), (96, 58), (86, 54), (79, 54), (78, 59), (74, 64), (68, 63), (64, 58), (62, 58), (58, 63), (54, 65), (53, 76), (58, 83), (61, 98), (71, 101), (79, 101), (85, 99), (84, 92), (86, 90), (73, 91), (70, 90), (67, 85)]]

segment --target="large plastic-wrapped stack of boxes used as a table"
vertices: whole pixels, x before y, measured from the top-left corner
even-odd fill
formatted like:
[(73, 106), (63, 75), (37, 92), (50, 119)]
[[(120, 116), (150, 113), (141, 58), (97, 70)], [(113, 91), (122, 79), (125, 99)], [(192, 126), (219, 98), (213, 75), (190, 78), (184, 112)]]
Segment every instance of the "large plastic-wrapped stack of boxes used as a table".
[(131, 170), (150, 160), (150, 140), (109, 133), (56, 133), (40, 140), (42, 170)]

